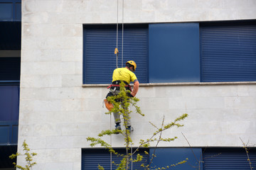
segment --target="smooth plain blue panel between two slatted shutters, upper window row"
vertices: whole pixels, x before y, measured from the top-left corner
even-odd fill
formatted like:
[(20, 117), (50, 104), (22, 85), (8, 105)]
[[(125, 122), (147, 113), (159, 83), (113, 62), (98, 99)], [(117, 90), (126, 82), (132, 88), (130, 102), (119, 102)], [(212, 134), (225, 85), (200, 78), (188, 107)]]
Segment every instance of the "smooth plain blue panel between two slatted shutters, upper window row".
[(149, 24), (149, 82), (200, 81), (198, 23)]

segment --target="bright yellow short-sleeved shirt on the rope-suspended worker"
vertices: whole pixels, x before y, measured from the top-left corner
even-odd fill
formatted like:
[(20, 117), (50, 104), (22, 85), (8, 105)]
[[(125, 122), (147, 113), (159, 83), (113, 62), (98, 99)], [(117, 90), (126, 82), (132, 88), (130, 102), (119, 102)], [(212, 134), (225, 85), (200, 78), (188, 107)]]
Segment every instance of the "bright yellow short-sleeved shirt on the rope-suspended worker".
[(114, 69), (113, 76), (112, 76), (112, 82), (121, 80), (121, 81), (126, 81), (128, 84), (131, 81), (134, 81), (136, 79), (137, 79), (136, 75), (125, 67)]

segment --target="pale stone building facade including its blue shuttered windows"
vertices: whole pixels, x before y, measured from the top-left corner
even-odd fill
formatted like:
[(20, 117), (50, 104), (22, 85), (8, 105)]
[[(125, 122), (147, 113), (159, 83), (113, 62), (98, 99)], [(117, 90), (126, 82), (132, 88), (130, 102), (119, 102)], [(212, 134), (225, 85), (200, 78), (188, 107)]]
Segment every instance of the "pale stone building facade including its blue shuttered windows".
[[(155, 166), (188, 158), (195, 167), (176, 169), (250, 169), (241, 148), (256, 157), (255, 8), (253, 0), (21, 1), (18, 152), (26, 140), (38, 154), (33, 169), (97, 169), (87, 160), (104, 149), (87, 137), (114, 128), (102, 101), (112, 70), (134, 60), (145, 114), (131, 115), (134, 147), (154, 133), (149, 122), (187, 113), (182, 128), (164, 132), (178, 139), (159, 143)], [(124, 147), (121, 135), (105, 140)]]

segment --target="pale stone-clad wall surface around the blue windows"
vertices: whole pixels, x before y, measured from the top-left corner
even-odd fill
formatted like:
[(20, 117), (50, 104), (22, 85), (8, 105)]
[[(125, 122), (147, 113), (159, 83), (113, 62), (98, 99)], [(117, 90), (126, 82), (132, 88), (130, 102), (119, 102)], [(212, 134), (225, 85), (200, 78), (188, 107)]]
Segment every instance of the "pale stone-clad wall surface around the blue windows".
[[(254, 0), (124, 1), (124, 23), (223, 21), (256, 18)], [(122, 21), (119, 1), (119, 22)], [(34, 169), (81, 169), (88, 136), (110, 128), (102, 100), (107, 85), (82, 87), (82, 23), (116, 23), (117, 1), (23, 0), (21, 98), (18, 151), (26, 140), (37, 152)], [(111, 80), (110, 80), (111, 81)], [(141, 86), (137, 97), (144, 117), (132, 114), (134, 139), (188, 113), (185, 126), (164, 133), (178, 140), (164, 147), (242, 146), (256, 143), (255, 84)], [(112, 119), (112, 126), (113, 119)], [(109, 141), (110, 138), (106, 137)], [(123, 147), (121, 135), (112, 136)], [(23, 157), (18, 158), (23, 164)]]

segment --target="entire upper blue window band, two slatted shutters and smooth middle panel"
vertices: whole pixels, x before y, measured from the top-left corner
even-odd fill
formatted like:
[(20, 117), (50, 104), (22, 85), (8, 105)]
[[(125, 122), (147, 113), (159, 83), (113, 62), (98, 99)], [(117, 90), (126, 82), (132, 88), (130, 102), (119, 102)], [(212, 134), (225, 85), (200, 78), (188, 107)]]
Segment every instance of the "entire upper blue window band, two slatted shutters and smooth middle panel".
[[(114, 25), (84, 26), (84, 84), (110, 84), (116, 38)], [(256, 81), (255, 21), (124, 25), (118, 49), (140, 83)]]

